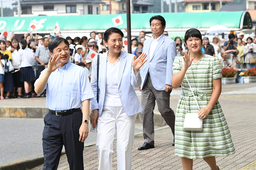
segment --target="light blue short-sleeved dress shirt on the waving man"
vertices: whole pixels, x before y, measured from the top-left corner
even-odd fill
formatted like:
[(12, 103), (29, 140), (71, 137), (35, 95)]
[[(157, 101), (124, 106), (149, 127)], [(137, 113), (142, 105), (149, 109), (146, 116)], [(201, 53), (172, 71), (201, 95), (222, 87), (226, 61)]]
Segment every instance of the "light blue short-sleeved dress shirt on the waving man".
[[(44, 69), (38, 80), (43, 76)], [(68, 60), (50, 75), (46, 89), (46, 107), (51, 110), (69, 110), (82, 107), (82, 101), (94, 98), (88, 74), (83, 67)]]

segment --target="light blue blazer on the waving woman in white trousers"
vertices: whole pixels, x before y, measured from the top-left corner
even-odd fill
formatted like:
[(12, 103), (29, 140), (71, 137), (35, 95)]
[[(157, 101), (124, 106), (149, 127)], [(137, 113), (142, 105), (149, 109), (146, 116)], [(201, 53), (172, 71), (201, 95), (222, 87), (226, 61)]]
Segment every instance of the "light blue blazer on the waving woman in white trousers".
[[(108, 51), (100, 56), (99, 64), (99, 104), (97, 103), (97, 57), (92, 62), (91, 86), (94, 98), (91, 99), (91, 110), (99, 109), (99, 117), (102, 112), (105, 90), (106, 90), (106, 72), (107, 72)], [(118, 93), (124, 111), (127, 115), (134, 115), (142, 111), (140, 100), (138, 99), (133, 87), (139, 87), (141, 84), (140, 71), (135, 76), (132, 68), (132, 54), (121, 51), (118, 71)]]

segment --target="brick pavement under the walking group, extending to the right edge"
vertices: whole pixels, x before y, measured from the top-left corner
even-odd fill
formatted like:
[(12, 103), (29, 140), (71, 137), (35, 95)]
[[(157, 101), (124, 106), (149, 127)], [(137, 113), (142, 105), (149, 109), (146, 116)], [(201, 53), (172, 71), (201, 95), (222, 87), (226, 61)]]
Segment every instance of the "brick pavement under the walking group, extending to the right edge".
[[(232, 91), (255, 87), (256, 83), (242, 85), (223, 85), (222, 91)], [(175, 101), (178, 96), (175, 96)], [(172, 97), (171, 97), (172, 100)], [(255, 170), (256, 169), (256, 95), (255, 94), (221, 94), (220, 105), (226, 116), (236, 153), (228, 157), (216, 157), (221, 170)], [(177, 104), (176, 104), (177, 106)], [(182, 170), (180, 158), (174, 156), (174, 147), (170, 128), (163, 127), (155, 131), (155, 148), (138, 151), (143, 143), (143, 135), (136, 135), (132, 148), (132, 169), (134, 170)], [(117, 169), (116, 140), (114, 140), (113, 169)], [(31, 170), (40, 170), (37, 166)], [(59, 170), (69, 170), (66, 155), (61, 156)], [(98, 169), (98, 153), (95, 145), (84, 148), (84, 169)], [(194, 159), (194, 170), (210, 170), (203, 159)]]

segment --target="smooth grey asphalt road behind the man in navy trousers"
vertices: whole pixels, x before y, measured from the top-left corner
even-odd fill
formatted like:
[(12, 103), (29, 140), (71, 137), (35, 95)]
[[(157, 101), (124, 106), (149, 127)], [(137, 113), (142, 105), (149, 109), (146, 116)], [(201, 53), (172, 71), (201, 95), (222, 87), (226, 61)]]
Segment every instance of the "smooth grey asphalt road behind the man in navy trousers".
[[(0, 118), (0, 129), (0, 164), (43, 154), (43, 118)], [(135, 133), (139, 132), (142, 124), (136, 123)], [(89, 132), (84, 143), (95, 142), (96, 138), (97, 133)]]

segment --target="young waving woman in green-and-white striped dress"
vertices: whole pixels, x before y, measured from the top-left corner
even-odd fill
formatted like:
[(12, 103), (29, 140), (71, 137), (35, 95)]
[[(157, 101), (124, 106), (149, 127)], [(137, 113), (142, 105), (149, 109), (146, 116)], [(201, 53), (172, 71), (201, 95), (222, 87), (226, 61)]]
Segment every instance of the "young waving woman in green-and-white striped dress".
[[(189, 51), (183, 57), (175, 57), (172, 68), (172, 87), (178, 88), (182, 84), (184, 94), (184, 97), (180, 95), (176, 109), (175, 155), (181, 157), (183, 170), (192, 170), (195, 158), (204, 159), (211, 170), (219, 170), (215, 156), (228, 156), (236, 152), (218, 101), (222, 78), (220, 61), (218, 57), (201, 53), (202, 35), (197, 29), (189, 29), (184, 41)], [(200, 110), (184, 78), (185, 74)], [(198, 117), (203, 119), (202, 131), (183, 130), (187, 114), (185, 102), (188, 112), (198, 113)]]

